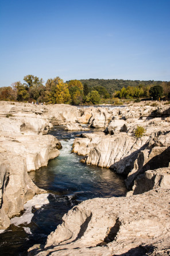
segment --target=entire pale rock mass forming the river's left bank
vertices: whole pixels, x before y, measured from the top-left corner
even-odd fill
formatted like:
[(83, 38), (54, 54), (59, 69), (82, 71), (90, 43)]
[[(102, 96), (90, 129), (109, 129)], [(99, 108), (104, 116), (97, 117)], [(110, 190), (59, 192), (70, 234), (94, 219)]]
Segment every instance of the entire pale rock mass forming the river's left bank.
[(45, 106), (0, 103), (0, 229), (9, 227), (10, 218), (33, 195), (45, 192), (34, 185), (28, 171), (59, 156), (60, 142), (52, 135), (42, 135), (52, 127), (47, 113)]

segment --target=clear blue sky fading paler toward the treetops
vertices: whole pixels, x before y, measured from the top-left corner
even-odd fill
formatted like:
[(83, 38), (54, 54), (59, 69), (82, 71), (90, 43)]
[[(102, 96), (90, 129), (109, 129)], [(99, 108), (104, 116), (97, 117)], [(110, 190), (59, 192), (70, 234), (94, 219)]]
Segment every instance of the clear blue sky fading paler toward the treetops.
[(170, 0), (0, 0), (0, 86), (170, 80)]

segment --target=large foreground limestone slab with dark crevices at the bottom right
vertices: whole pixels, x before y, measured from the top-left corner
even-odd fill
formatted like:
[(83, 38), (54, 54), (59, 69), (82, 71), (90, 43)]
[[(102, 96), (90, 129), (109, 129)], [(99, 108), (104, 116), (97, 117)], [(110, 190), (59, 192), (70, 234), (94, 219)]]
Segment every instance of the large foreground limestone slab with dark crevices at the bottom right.
[(157, 249), (168, 251), (169, 242), (169, 190), (159, 189), (82, 202), (64, 215), (45, 248), (34, 246), (29, 256), (154, 255)]

